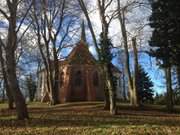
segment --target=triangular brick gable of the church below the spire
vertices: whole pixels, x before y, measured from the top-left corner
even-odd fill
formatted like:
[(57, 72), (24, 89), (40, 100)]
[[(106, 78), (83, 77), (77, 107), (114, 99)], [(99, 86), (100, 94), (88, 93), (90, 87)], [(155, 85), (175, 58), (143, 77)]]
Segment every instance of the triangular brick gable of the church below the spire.
[(80, 41), (77, 46), (72, 50), (67, 58), (68, 64), (88, 64), (94, 65), (97, 63), (96, 59), (89, 52), (88, 46)]

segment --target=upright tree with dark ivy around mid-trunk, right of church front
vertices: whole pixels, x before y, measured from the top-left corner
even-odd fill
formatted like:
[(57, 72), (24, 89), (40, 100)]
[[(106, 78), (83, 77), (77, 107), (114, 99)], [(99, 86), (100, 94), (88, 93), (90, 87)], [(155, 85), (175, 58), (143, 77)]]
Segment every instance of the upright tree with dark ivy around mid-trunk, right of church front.
[[(111, 47), (112, 44), (109, 41), (109, 25), (114, 18), (114, 13), (110, 15), (107, 13), (108, 7), (112, 4), (112, 0), (104, 1), (104, 0), (97, 0), (99, 16), (102, 25), (102, 33), (101, 33), (101, 63), (103, 65), (104, 76), (105, 76), (105, 85), (108, 90), (109, 94), (109, 101), (110, 101), (110, 113), (116, 114), (116, 92), (115, 92), (115, 84), (113, 81), (113, 73), (112, 73), (112, 54), (111, 54)], [(108, 19), (107, 19), (108, 16)]]

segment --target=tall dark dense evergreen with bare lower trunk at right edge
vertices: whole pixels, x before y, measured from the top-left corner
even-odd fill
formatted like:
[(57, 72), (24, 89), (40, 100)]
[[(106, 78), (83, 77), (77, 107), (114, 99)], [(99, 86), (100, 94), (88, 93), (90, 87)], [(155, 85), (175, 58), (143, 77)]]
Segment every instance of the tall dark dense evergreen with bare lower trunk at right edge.
[(173, 110), (173, 91), (171, 68), (179, 67), (180, 56), (180, 2), (175, 0), (151, 1), (152, 15), (150, 26), (153, 28), (150, 46), (151, 55), (156, 57), (164, 68), (167, 87), (167, 108)]

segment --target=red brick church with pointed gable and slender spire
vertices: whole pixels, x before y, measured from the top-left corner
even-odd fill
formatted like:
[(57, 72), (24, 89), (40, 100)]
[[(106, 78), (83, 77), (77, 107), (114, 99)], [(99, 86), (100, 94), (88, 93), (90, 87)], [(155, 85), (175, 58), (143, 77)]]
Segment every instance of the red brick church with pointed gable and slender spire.
[[(98, 61), (88, 49), (85, 30), (82, 27), (81, 39), (68, 57), (59, 61), (60, 69), (60, 103), (73, 101), (104, 100), (104, 81)], [(113, 66), (113, 73), (120, 78), (119, 70)], [(119, 82), (119, 81), (118, 81)], [(39, 72), (38, 98), (48, 101), (45, 71)]]

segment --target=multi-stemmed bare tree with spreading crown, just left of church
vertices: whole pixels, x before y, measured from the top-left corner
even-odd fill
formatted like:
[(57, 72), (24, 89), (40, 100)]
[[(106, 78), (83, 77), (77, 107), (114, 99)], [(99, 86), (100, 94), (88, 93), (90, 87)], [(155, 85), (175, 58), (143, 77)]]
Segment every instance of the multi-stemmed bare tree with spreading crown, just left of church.
[(63, 44), (72, 26), (77, 21), (75, 12), (70, 11), (72, 1), (34, 0), (31, 18), (38, 39), (47, 75), (47, 87), (51, 104), (59, 103), (59, 53), (67, 46)]

